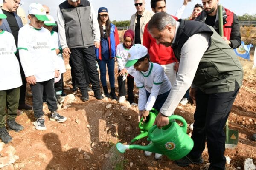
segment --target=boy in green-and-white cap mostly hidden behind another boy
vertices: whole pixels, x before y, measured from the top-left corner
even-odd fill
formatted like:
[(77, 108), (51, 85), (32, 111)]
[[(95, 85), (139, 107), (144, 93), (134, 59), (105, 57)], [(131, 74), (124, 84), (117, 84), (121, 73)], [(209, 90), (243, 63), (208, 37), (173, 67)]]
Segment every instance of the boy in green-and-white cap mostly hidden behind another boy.
[(60, 80), (54, 83), (55, 97), (59, 102), (59, 104), (61, 104), (62, 102), (64, 102), (64, 97), (62, 96), (65, 96), (63, 92), (63, 73), (66, 72), (66, 68), (65, 68), (65, 62), (61, 53), (62, 48), (61, 48), (60, 40), (58, 37), (58, 33), (52, 30), (53, 26), (57, 26), (57, 24), (55, 23), (55, 20), (51, 15), (47, 15), (47, 17), (49, 21), (44, 21), (44, 28), (48, 29), (52, 35), (51, 36), (52, 42), (54, 44), (55, 51), (57, 54), (57, 64), (59, 66), (59, 69), (60, 69), (59, 72), (61, 74)]

